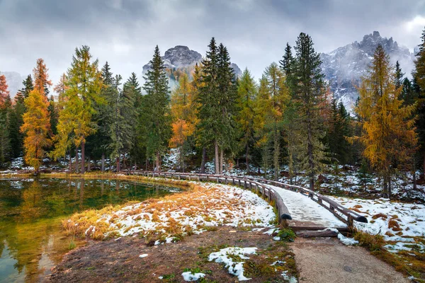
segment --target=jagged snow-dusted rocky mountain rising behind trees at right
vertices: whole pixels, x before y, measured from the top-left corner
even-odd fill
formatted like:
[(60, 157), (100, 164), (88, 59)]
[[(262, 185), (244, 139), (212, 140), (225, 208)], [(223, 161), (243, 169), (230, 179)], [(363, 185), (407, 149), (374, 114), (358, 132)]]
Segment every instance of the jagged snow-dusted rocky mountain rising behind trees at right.
[(360, 78), (366, 74), (378, 44), (382, 45), (385, 52), (390, 55), (390, 62), (395, 64), (398, 60), (402, 71), (409, 76), (414, 66), (414, 55), (407, 47), (399, 46), (392, 37), (389, 39), (381, 37), (378, 31), (363, 36), (361, 42), (355, 41), (329, 54), (320, 55), (323, 61), (322, 70), (329, 81), (331, 91), (349, 111), (352, 110), (358, 98), (355, 86), (360, 85)]

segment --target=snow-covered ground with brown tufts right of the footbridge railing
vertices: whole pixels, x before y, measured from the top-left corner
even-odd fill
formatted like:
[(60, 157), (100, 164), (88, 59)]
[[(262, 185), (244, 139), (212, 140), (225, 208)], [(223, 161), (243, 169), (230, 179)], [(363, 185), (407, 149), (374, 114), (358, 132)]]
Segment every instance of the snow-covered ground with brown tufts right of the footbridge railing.
[(387, 250), (419, 250), (425, 253), (425, 245), (416, 239), (425, 237), (425, 205), (392, 202), (387, 199), (362, 200), (346, 197), (330, 197), (339, 204), (362, 214), (368, 223), (354, 221), (356, 228), (372, 235), (380, 234)]

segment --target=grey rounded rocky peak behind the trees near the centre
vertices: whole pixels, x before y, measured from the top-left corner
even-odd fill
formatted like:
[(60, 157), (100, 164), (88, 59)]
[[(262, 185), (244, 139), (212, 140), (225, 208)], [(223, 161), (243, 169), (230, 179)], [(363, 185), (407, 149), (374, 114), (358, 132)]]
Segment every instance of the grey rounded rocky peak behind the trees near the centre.
[[(164, 61), (164, 66), (167, 69), (167, 74), (169, 75), (169, 85), (170, 87), (176, 86), (176, 71), (183, 71), (186, 74), (191, 74), (191, 71), (195, 67), (196, 63), (202, 61), (203, 57), (199, 52), (190, 50), (189, 47), (183, 45), (177, 45), (172, 47), (169, 50), (166, 50), (164, 56), (161, 57)], [(143, 66), (143, 74), (146, 74), (147, 70), (150, 68), (150, 64), (145, 64)], [(234, 70), (234, 74), (237, 76), (242, 75), (241, 69), (237, 64), (232, 63), (231, 67)]]

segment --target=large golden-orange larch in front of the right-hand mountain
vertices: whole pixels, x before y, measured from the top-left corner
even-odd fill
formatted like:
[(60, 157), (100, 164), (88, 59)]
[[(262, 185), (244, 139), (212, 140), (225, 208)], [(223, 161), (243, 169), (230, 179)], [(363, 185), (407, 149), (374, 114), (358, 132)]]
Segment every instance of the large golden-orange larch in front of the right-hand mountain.
[(363, 156), (378, 170), (387, 197), (391, 197), (395, 166), (409, 161), (417, 141), (411, 117), (414, 106), (402, 105), (402, 88), (395, 88), (394, 76), (390, 58), (378, 45), (368, 75), (363, 76), (358, 88), (356, 112), (361, 117), (363, 132), (361, 137), (351, 139), (365, 146)]

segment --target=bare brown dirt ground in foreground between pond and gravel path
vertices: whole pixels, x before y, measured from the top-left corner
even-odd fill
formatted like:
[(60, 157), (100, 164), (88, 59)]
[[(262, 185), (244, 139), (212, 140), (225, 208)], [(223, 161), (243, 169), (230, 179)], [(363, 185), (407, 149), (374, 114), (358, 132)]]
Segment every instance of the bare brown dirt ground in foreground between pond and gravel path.
[[(184, 282), (181, 273), (186, 269), (205, 273), (200, 282), (238, 282), (224, 264), (208, 261), (210, 253), (227, 246), (258, 248), (258, 255), (244, 260), (244, 275), (252, 278), (250, 282), (287, 282), (281, 275), (283, 271), (297, 276), (293, 253), (286, 243), (273, 241), (264, 231), (267, 229), (247, 231), (221, 226), (216, 231), (159, 246), (147, 246), (139, 237), (91, 241), (65, 255), (45, 282)], [(140, 258), (142, 254), (147, 257)], [(271, 266), (276, 260), (285, 263)]]

